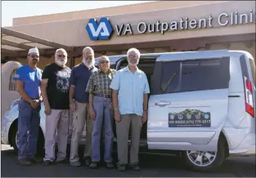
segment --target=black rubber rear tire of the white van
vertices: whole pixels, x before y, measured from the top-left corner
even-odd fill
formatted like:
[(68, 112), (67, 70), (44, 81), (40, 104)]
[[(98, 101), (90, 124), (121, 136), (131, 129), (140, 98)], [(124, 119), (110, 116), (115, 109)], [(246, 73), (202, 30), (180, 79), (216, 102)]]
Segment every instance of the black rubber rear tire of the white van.
[(227, 152), (227, 142), (225, 140), (225, 137), (221, 134), (219, 136), (218, 140), (218, 152), (216, 152), (215, 159), (213, 162), (211, 162), (208, 166), (196, 166), (193, 162), (191, 162), (191, 159), (188, 156), (189, 151), (182, 151), (182, 159), (186, 162), (186, 166), (191, 168), (194, 171), (200, 171), (200, 172), (210, 172), (210, 171), (216, 171), (218, 167), (222, 165), (222, 162), (227, 158), (226, 152)]

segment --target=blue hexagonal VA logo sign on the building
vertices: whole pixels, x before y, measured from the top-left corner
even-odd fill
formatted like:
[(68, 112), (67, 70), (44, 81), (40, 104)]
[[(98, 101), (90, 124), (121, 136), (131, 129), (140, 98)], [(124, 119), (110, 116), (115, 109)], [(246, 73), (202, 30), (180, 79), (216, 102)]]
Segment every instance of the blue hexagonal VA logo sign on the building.
[(90, 19), (88, 24), (86, 25), (86, 29), (88, 31), (89, 37), (91, 40), (106, 40), (109, 39), (111, 33), (113, 32), (112, 26), (110, 24), (110, 20), (108, 17), (103, 17), (97, 23), (96, 19)]

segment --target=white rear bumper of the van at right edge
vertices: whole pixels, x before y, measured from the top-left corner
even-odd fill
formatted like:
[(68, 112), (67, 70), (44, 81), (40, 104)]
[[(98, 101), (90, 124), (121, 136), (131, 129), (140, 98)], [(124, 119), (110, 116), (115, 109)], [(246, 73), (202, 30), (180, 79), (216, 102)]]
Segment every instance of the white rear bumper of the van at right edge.
[(236, 149), (229, 150), (230, 156), (255, 155), (255, 132), (249, 133)]

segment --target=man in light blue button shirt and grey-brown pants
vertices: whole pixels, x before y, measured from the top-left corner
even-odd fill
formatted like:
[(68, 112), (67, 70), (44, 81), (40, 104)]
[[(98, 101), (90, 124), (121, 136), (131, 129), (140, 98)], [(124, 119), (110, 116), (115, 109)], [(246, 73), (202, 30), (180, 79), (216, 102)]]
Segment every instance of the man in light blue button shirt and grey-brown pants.
[(141, 127), (147, 119), (148, 94), (150, 93), (146, 74), (137, 68), (140, 52), (131, 48), (127, 52), (128, 66), (115, 73), (110, 88), (115, 109), (118, 144), (118, 170), (124, 171), (128, 164), (128, 134), (132, 127), (130, 166), (139, 171), (138, 151)]

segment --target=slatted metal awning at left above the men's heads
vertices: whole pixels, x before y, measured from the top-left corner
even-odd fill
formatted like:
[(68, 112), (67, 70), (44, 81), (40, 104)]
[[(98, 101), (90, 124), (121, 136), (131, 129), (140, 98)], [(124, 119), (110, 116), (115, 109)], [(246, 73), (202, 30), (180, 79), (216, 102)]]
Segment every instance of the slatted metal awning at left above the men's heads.
[(74, 47), (68, 47), (47, 39), (37, 38), (12, 29), (1, 28), (1, 60), (9, 57), (24, 57), (32, 47), (38, 47), (40, 56), (53, 55), (57, 48), (64, 48), (69, 54)]

